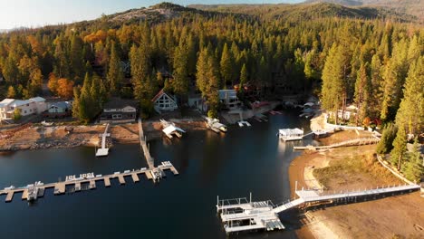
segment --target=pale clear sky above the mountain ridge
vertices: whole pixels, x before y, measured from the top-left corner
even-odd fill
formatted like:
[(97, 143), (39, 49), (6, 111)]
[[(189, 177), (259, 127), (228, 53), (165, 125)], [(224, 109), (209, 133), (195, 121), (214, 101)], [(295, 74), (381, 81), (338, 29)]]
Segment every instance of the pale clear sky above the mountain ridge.
[[(46, 24), (92, 20), (101, 14), (156, 5), (165, 0), (0, 0), (0, 29), (38, 27)], [(193, 4), (278, 4), (303, 0), (168, 0), (178, 5)]]

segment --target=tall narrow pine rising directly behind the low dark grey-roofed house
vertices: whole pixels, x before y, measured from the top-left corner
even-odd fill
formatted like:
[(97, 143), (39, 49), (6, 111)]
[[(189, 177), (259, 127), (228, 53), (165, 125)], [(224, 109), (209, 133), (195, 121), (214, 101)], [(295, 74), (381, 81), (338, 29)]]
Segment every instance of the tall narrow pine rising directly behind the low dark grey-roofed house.
[(119, 92), (120, 84), (124, 79), (116, 43), (112, 43), (111, 61), (109, 62), (109, 72), (106, 78), (109, 82), (109, 89), (111, 94), (116, 95)]

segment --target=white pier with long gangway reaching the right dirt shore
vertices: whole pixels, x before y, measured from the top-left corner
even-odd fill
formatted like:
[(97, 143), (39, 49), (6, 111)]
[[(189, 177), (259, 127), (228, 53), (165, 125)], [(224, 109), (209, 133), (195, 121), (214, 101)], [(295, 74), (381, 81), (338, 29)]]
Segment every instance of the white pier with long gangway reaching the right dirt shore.
[(280, 205), (274, 205), (271, 201), (252, 202), (244, 198), (224, 199), (217, 198), (217, 212), (220, 213), (226, 234), (253, 230), (281, 230), (284, 225), (281, 223), (278, 214), (296, 206), (307, 203), (350, 201), (364, 196), (394, 195), (408, 193), (419, 190), (419, 185), (387, 186), (362, 191), (340, 192), (334, 194), (321, 194), (317, 190), (296, 190), (299, 198), (289, 200)]

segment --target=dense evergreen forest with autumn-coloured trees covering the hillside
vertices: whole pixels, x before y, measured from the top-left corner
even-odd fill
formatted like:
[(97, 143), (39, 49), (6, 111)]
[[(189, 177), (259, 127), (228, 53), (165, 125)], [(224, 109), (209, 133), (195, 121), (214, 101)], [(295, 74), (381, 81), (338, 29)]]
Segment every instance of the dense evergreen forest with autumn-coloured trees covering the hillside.
[(3, 96), (34, 97), (47, 83), (53, 94), (73, 98), (74, 116), (87, 121), (111, 96), (134, 98), (149, 111), (161, 88), (180, 99), (200, 91), (215, 116), (218, 89), (249, 82), (266, 97), (283, 81), (314, 90), (325, 110), (355, 104), (353, 123), (386, 127), (379, 151), (392, 151), (392, 163), (413, 178), (422, 173), (419, 154), (406, 150), (407, 139), (423, 131), (422, 25), (322, 15), (265, 21), (171, 4), (140, 11), (144, 17), (103, 15), (1, 34)]

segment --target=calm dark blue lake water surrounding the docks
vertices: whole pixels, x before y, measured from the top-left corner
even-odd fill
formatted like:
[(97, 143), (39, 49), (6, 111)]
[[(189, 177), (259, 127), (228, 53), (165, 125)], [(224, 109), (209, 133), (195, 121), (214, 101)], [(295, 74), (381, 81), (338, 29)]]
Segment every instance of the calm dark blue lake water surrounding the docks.
[[(97, 189), (53, 196), (48, 189), (43, 198), (28, 206), (15, 194), (12, 203), (0, 196), (0, 231), (7, 238), (226, 238), (216, 210), (220, 198), (248, 197), (288, 199), (288, 166), (299, 154), (294, 145), (282, 143), (277, 129), (303, 127), (309, 120), (299, 113), (284, 111), (269, 122), (253, 122), (251, 128), (231, 127), (226, 135), (212, 131), (188, 132), (183, 139), (150, 141), (156, 164), (171, 161), (179, 176), (159, 184), (140, 177), (134, 184), (111, 187), (103, 182)], [(252, 122), (252, 120), (251, 120)], [(139, 145), (117, 145), (108, 158), (95, 158), (94, 148), (43, 149), (0, 155), (0, 188), (24, 186), (34, 181), (55, 182), (59, 177), (87, 172), (111, 174), (115, 171), (147, 167)], [(290, 215), (281, 215), (288, 230), (242, 234), (241, 238), (295, 238)], [(3, 237), (3, 236), (2, 236)]]

